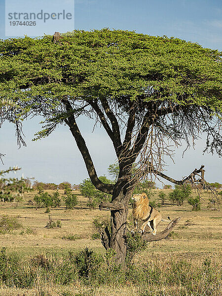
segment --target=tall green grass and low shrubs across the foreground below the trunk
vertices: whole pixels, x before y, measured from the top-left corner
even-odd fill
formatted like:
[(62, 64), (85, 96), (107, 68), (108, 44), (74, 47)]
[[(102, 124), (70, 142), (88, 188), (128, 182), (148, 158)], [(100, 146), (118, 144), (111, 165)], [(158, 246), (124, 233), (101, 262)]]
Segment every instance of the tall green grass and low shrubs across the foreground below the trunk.
[[(134, 243), (132, 245), (135, 246)], [(216, 295), (215, 291), (220, 291), (220, 268), (209, 258), (203, 258), (200, 266), (190, 261), (165, 259), (164, 262), (151, 260), (143, 264), (130, 264), (124, 269), (117, 266), (113, 258), (112, 249), (104, 257), (86, 248), (77, 254), (69, 252), (69, 256), (37, 254), (20, 258), (2, 248), (0, 285), (36, 289), (38, 279), (40, 287), (63, 286), (63, 290), (77, 282), (86, 290), (84, 296), (95, 295), (95, 291), (98, 293), (98, 288), (104, 285), (121, 289), (129, 283), (139, 287), (140, 296), (163, 296), (163, 288), (170, 296), (212, 296)], [(175, 287), (180, 288), (175, 291)], [(92, 294), (90, 289), (94, 291)], [(71, 296), (64, 294), (68, 295)]]

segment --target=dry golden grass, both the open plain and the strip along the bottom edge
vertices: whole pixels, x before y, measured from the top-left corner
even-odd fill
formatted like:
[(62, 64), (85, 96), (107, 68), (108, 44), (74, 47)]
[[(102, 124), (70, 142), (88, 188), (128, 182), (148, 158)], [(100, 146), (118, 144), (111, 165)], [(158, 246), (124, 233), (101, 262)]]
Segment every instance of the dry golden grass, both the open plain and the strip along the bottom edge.
[[(53, 190), (47, 190), (49, 193)], [(59, 190), (63, 194), (63, 190)], [(156, 202), (160, 190), (153, 190)], [(163, 190), (169, 193), (172, 190)], [(48, 214), (45, 208), (37, 209), (35, 205), (28, 205), (28, 200), (33, 199), (36, 192), (25, 194), (22, 203), (0, 203), (0, 217), (8, 215), (18, 217), (23, 225), (22, 229), (14, 230), (11, 233), (0, 234), (0, 246), (6, 247), (8, 252), (17, 252), (22, 256), (30, 256), (39, 253), (66, 254), (69, 251), (77, 252), (88, 246), (96, 252), (104, 253), (105, 249), (99, 239), (92, 240), (91, 235), (95, 232), (92, 221), (95, 217), (109, 219), (109, 212), (102, 212), (98, 209), (89, 210), (86, 207), (87, 200), (78, 194), (78, 204), (74, 210), (66, 210), (64, 203), (61, 208), (51, 209), (53, 221), (61, 220), (62, 228), (48, 229), (44, 226), (48, 221)], [(192, 193), (196, 195), (195, 192)], [(220, 264), (221, 256), (221, 212), (207, 208), (209, 193), (202, 193), (201, 211), (192, 212), (187, 202), (183, 206), (172, 206), (169, 201), (160, 207), (163, 218), (170, 216), (171, 219), (182, 217), (179, 224), (173, 229), (169, 239), (158, 242), (150, 242), (148, 249), (136, 258), (139, 262), (155, 264), (161, 268), (167, 268), (169, 260), (185, 260), (192, 262), (195, 266), (201, 266), (205, 258), (210, 258), (213, 263)], [(151, 199), (152, 200), (152, 199)], [(163, 230), (167, 222), (161, 222), (158, 231)], [(33, 233), (27, 234), (26, 229), (30, 227)], [(128, 227), (132, 228), (132, 209), (129, 209)], [(62, 239), (64, 236), (76, 235), (79, 238), (75, 241)], [(39, 283), (35, 289), (15, 289), (8, 287), (0, 288), (0, 296), (61, 296), (61, 295), (93, 295), (93, 296), (136, 296), (141, 295), (143, 287), (137, 287), (132, 283), (126, 283), (121, 289), (118, 286), (89, 287), (76, 282), (70, 287), (50, 287), (47, 284)], [(158, 288), (160, 289), (160, 288)], [(157, 290), (158, 290), (157, 289)], [(167, 287), (162, 287), (163, 295), (168, 295)], [(172, 289), (172, 287), (171, 287)], [(180, 295), (181, 287), (175, 287)], [(153, 295), (159, 295), (159, 291)], [(44, 293), (43, 293), (43, 292)], [(42, 294), (43, 293), (43, 294)], [(156, 294), (155, 294), (156, 293)], [(219, 293), (219, 294), (217, 294)], [(220, 295), (218, 291), (215, 295)]]

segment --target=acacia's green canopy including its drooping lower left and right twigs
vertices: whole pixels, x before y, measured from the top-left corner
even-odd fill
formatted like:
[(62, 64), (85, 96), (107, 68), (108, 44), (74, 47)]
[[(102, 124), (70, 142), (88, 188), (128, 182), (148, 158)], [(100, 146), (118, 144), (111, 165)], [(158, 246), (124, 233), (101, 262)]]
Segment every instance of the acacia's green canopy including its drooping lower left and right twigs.
[[(61, 103), (67, 95), (72, 103), (76, 98), (111, 98), (121, 103), (123, 112), (130, 110), (129, 100), (138, 101), (137, 111), (144, 111), (150, 101), (167, 108), (176, 105), (181, 112), (175, 109), (175, 118), (191, 119), (192, 129), (198, 126), (200, 131), (207, 127), (204, 118), (210, 121), (212, 113), (218, 118), (222, 114), (221, 52), (179, 38), (75, 30), (57, 44), (49, 35), (0, 40), (0, 56), (0, 101), (10, 100), (21, 107), (15, 109), (17, 119), (32, 112), (45, 115), (37, 139), (64, 122), (67, 114), (61, 111)], [(200, 108), (205, 112), (199, 112)], [(7, 112), (2, 120), (8, 120)], [(187, 128), (181, 129), (177, 119), (165, 120), (162, 126), (166, 133), (163, 129), (161, 133), (172, 138), (183, 137), (183, 127)], [(220, 141), (207, 143), (221, 153)]]

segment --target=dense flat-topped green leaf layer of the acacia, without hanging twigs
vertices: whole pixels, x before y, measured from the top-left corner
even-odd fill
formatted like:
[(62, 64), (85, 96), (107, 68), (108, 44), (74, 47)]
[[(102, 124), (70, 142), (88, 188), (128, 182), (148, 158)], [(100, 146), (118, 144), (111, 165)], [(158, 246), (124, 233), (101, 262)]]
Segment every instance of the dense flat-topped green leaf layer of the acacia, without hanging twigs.
[[(136, 98), (152, 85), (154, 90), (162, 88), (163, 94), (168, 89), (165, 98), (171, 101), (221, 110), (215, 92), (215, 88), (219, 91), (222, 87), (218, 63), (221, 53), (179, 38), (121, 30), (75, 30), (64, 35), (56, 45), (51, 36), (1, 40), (0, 54), (4, 57), (0, 91), (2, 97), (13, 102), (16, 82), (17, 97), (34, 100), (37, 95), (47, 96), (47, 89), (53, 83), (50, 98), (55, 98), (54, 104), (58, 94), (66, 93), (71, 97), (86, 93), (95, 98), (98, 95), (121, 97), (128, 90), (128, 94)], [(42, 77), (43, 70), (45, 80), (39, 84), (36, 79)], [(82, 80), (79, 80), (79, 71)], [(68, 78), (64, 80), (64, 77)], [(93, 81), (96, 94), (94, 88), (90, 91)], [(22, 92), (24, 85), (30, 86), (26, 95)], [(188, 95), (187, 100), (181, 98), (184, 93)], [(155, 99), (154, 94), (150, 97)]]

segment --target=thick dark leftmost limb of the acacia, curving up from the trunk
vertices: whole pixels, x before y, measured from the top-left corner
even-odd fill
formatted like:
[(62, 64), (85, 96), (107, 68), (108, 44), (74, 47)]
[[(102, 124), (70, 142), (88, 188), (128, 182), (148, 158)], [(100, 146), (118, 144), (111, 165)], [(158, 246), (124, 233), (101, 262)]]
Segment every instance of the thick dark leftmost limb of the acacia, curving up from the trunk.
[(82, 137), (82, 135), (81, 135), (81, 133), (79, 131), (79, 128), (78, 128), (78, 126), (76, 124), (75, 117), (74, 117), (74, 114), (73, 114), (73, 108), (72, 108), (70, 102), (68, 100), (65, 100), (65, 99), (62, 100), (62, 102), (65, 105), (66, 110), (67, 110), (67, 112), (69, 114), (67, 119), (65, 119), (65, 122), (70, 127), (70, 130), (71, 130), (71, 132), (72, 132), (72, 134), (74, 136), (77, 147), (78, 147), (79, 151), (82, 154), (82, 157), (83, 157), (83, 160), (85, 162), (85, 166), (86, 166), (86, 169), (88, 171), (89, 178), (92, 181), (92, 184), (97, 189), (99, 189), (99, 190), (101, 190), (101, 191), (103, 191), (105, 193), (112, 194), (113, 184), (105, 184), (105, 183), (101, 182), (99, 180), (98, 176), (97, 176), (97, 173), (96, 173), (92, 158), (91, 158), (91, 156), (89, 154), (89, 150), (86, 147), (85, 140), (83, 139), (83, 137)]

